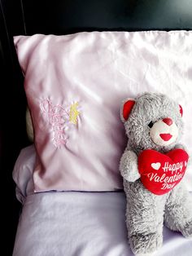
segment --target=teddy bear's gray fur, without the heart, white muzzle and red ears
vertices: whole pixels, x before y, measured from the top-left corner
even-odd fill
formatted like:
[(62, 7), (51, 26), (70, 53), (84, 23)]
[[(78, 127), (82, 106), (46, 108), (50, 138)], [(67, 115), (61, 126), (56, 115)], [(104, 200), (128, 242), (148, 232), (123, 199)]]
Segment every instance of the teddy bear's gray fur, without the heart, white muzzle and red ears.
[[(156, 196), (142, 185), (137, 170), (138, 154), (149, 148), (159, 152), (184, 148), (178, 144), (183, 123), (178, 104), (166, 95), (145, 93), (135, 101), (128, 121), (124, 121), (129, 146), (121, 157), (120, 173), (127, 198), (126, 224), (130, 247), (135, 255), (152, 255), (162, 246), (164, 223), (173, 231), (192, 237), (192, 200), (182, 181), (163, 196)], [(179, 135), (174, 143), (163, 147), (152, 141), (148, 124), (166, 117), (175, 121)]]

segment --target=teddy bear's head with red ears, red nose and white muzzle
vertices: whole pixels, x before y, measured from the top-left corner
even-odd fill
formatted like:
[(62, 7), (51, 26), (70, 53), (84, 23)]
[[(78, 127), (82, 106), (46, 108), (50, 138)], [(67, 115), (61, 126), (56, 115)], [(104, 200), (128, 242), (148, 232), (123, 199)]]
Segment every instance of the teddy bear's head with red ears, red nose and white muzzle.
[(181, 105), (163, 94), (144, 93), (136, 99), (124, 100), (120, 116), (129, 147), (137, 152), (171, 150), (181, 138), (182, 112)]

